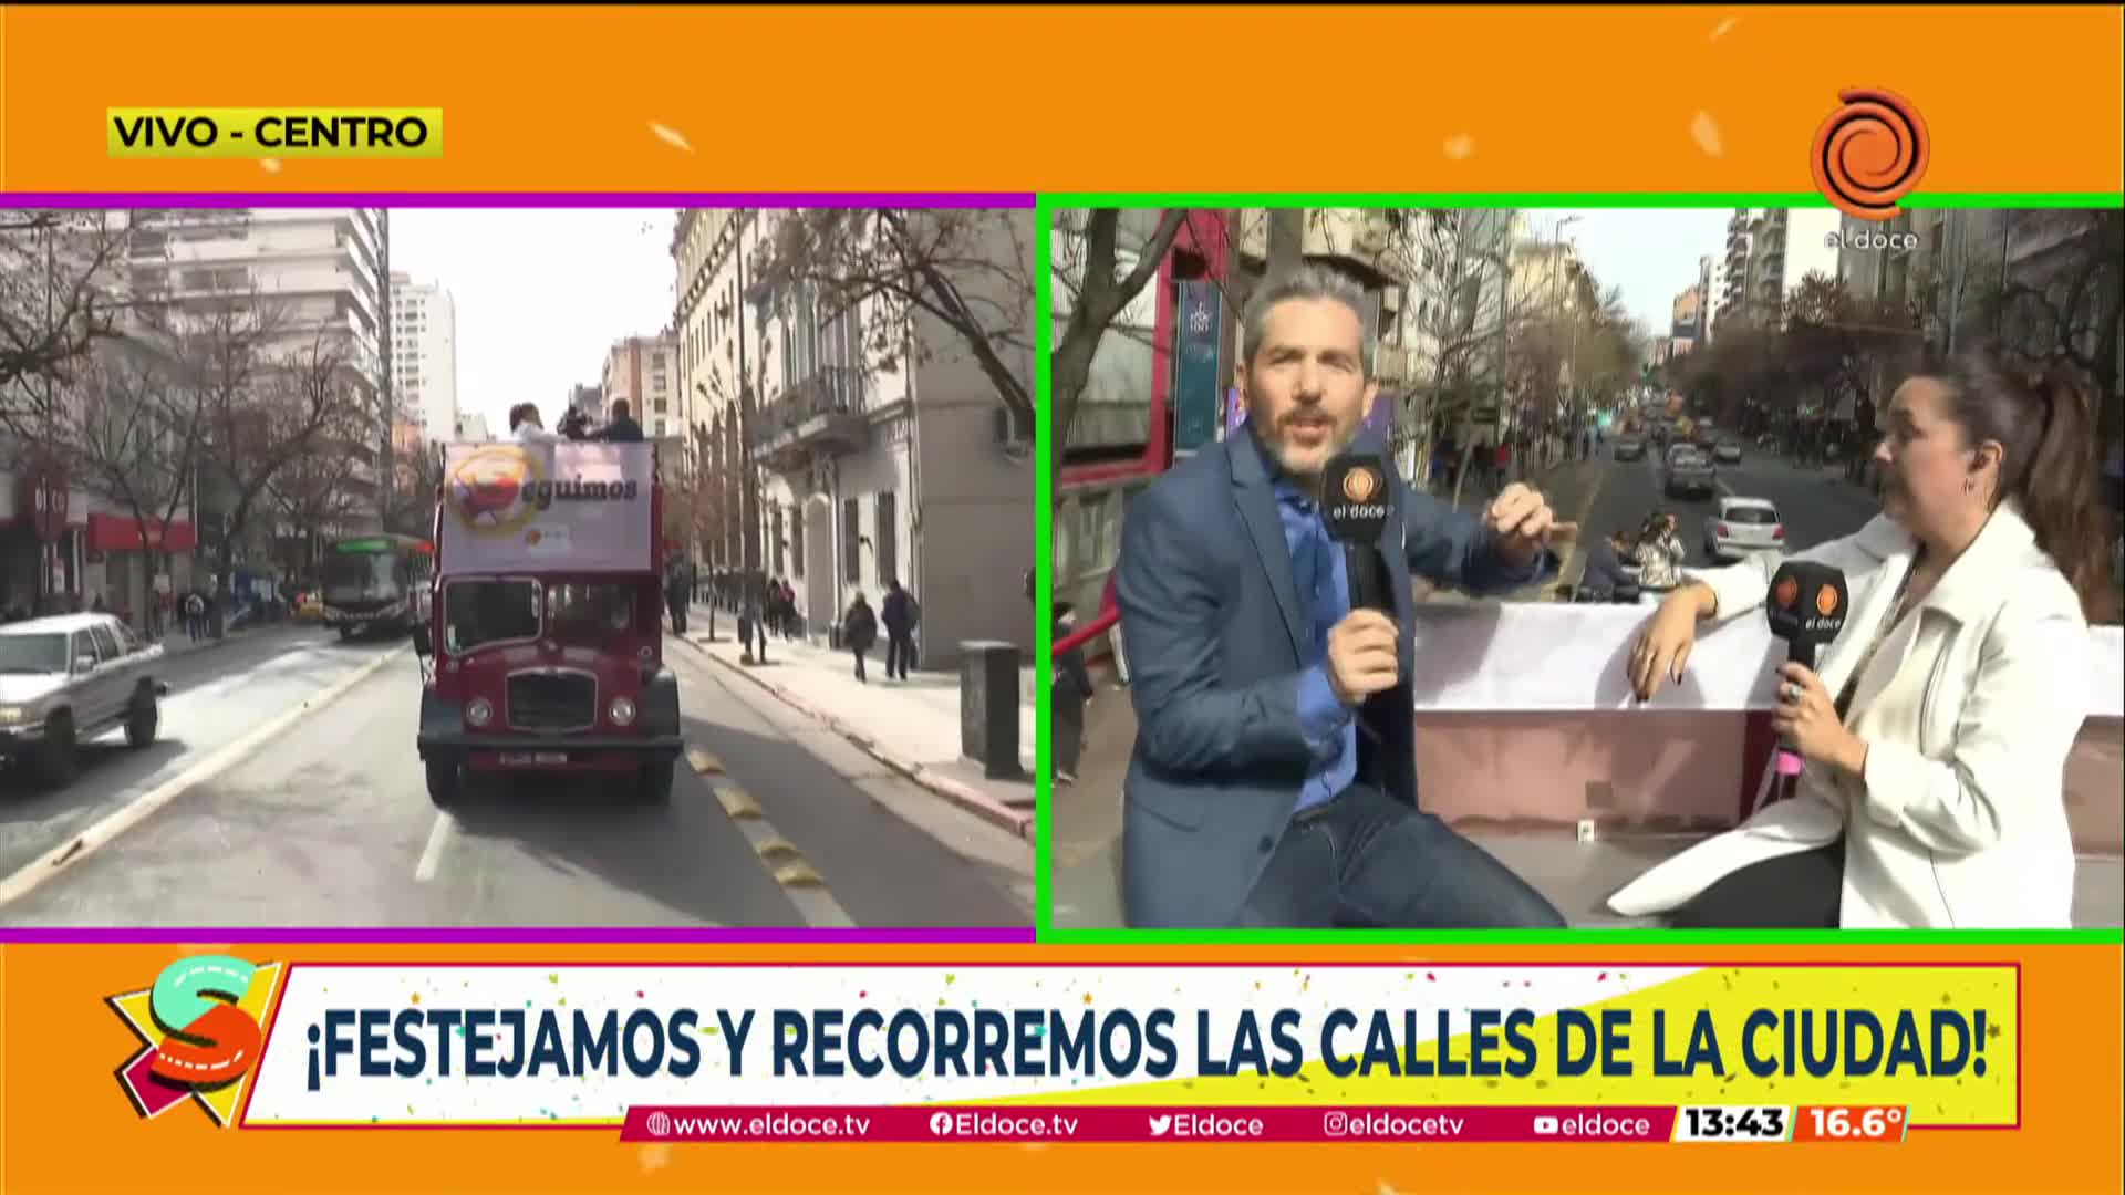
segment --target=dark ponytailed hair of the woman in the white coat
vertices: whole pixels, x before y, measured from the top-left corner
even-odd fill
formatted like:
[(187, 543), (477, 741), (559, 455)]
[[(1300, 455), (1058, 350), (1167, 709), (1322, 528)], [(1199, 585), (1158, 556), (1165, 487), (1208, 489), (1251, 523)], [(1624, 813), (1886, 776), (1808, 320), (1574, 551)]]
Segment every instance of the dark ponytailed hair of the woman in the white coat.
[(1966, 353), (1921, 370), (1946, 389), (1944, 415), (1964, 444), (1998, 440), (2002, 502), (2021, 502), (2036, 546), (2059, 566), (2093, 621), (2108, 600), (2110, 549), (2095, 485), (2095, 425), (2089, 387), (2061, 361), (2010, 366)]

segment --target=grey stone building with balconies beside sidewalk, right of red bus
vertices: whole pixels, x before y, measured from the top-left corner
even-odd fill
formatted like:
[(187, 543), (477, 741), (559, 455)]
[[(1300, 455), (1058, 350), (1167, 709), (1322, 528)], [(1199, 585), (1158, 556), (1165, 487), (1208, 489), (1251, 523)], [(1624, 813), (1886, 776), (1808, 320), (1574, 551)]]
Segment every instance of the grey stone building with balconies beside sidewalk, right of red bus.
[[(1031, 213), (952, 213), (960, 251), (997, 270), (950, 270), (975, 310), (1033, 319), (1012, 279), (1031, 262)], [(748, 423), (763, 470), (761, 570), (784, 578), (814, 640), (861, 591), (871, 604), (901, 583), (922, 604), (924, 668), (950, 668), (971, 640), (1033, 642), (1018, 587), (1033, 542), (1031, 444), (1009, 419), (973, 347), (922, 308), (878, 300), (833, 310), (805, 285), (763, 296), (761, 402)], [(907, 353), (880, 359), (871, 334), (905, 319)], [(992, 338), (988, 351), (1031, 391), (1033, 355)], [(752, 349), (748, 349), (750, 353)]]

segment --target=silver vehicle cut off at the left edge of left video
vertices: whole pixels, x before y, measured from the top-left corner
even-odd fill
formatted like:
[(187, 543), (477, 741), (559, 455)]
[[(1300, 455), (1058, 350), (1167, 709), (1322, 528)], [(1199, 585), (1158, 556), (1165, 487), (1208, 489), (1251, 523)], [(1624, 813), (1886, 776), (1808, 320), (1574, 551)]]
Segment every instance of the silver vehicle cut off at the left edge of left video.
[(79, 746), (123, 727), (142, 751), (162, 727), (162, 646), (115, 615), (60, 615), (0, 627), (0, 759), (40, 780), (74, 778)]

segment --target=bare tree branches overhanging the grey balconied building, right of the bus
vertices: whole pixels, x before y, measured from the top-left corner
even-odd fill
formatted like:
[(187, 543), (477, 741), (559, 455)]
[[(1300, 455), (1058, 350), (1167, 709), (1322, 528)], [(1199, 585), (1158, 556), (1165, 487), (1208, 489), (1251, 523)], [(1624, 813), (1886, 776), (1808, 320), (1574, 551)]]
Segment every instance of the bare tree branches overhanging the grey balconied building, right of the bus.
[(912, 334), (941, 323), (1020, 427), (1033, 427), (1031, 225), (1016, 211), (799, 211), (754, 264), (774, 291), (808, 289), (818, 319), (863, 313), (865, 364), (890, 368), (944, 349)]

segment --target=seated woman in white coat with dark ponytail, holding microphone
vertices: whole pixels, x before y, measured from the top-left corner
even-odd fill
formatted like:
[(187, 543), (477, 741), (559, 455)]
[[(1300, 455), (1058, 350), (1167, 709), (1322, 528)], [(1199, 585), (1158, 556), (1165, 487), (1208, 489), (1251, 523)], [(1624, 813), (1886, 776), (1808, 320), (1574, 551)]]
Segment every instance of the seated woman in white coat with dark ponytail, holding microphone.
[[(1626, 916), (1734, 927), (2068, 927), (2066, 757), (2104, 598), (2087, 389), (1959, 359), (1906, 381), (1874, 451), (1883, 512), (1800, 553), (1844, 572), (1821, 672), (1785, 663), (1772, 714), (1791, 800), (1655, 865)], [(1764, 602), (1776, 559), (1702, 574), (1638, 638), (1651, 697), (1702, 619)]]

